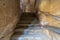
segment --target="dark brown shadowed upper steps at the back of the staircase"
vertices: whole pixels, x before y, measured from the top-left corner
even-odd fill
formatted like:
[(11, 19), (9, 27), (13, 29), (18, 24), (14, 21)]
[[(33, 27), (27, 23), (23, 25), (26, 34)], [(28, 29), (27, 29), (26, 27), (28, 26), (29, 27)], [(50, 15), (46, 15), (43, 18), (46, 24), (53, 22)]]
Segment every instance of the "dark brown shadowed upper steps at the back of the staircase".
[(16, 28), (27, 27), (36, 18), (35, 13), (22, 13)]

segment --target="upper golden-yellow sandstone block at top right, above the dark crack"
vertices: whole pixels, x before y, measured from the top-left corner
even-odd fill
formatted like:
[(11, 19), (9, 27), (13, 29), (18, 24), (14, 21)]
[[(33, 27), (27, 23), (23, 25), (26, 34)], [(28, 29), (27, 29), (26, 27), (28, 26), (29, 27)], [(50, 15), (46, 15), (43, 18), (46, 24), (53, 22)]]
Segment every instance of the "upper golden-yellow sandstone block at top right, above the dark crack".
[(39, 10), (60, 17), (60, 0), (41, 0)]

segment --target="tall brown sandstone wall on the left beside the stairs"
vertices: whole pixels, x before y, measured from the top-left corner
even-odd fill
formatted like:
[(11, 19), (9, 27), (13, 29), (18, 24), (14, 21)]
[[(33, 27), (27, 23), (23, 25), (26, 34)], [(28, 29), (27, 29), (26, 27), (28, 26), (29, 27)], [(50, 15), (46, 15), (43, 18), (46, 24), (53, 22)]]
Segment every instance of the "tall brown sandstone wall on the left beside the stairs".
[(19, 19), (19, 5), (19, 0), (0, 0), (0, 38), (12, 34)]

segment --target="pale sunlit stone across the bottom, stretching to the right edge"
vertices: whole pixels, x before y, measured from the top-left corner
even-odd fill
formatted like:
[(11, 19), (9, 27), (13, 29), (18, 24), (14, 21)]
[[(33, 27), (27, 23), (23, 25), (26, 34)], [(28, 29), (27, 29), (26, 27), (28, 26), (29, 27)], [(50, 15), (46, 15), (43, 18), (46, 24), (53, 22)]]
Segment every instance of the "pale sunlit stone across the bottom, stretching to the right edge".
[[(32, 24), (36, 24), (37, 20), (34, 20)], [(24, 34), (18, 37), (14, 37), (13, 40), (60, 40), (59, 29), (51, 27), (41, 27), (38, 25), (30, 24), (27, 29), (24, 30)]]

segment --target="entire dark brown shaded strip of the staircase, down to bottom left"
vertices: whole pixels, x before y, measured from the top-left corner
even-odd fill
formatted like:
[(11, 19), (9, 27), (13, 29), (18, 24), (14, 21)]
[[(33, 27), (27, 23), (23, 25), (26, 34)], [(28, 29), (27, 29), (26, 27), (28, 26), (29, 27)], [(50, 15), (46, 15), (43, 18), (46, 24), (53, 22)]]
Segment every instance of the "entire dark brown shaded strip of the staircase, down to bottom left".
[(24, 30), (29, 27), (35, 18), (37, 18), (35, 13), (22, 13), (20, 22), (17, 24), (11, 40), (17, 40), (19, 36), (23, 35)]

